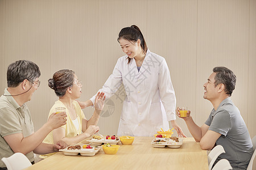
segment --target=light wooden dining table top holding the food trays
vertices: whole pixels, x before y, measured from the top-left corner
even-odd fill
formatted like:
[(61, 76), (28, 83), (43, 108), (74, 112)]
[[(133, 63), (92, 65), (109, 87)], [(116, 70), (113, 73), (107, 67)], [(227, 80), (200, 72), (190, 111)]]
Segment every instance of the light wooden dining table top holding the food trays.
[(102, 149), (94, 156), (57, 152), (26, 169), (208, 169), (207, 151), (193, 138), (184, 138), (180, 148), (154, 148), (152, 139), (135, 137), (133, 145), (118, 143), (121, 146), (115, 155)]

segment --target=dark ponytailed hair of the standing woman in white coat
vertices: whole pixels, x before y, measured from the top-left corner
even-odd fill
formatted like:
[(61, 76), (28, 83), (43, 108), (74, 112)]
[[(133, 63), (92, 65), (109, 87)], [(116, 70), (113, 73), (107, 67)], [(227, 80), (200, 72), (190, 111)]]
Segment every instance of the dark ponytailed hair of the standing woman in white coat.
[[(121, 31), (119, 32), (117, 41), (119, 42), (120, 39), (125, 39), (130, 42), (135, 42), (135, 41), (138, 41), (138, 39), (140, 39), (143, 53), (144, 54), (147, 53), (146, 41), (142, 35), (141, 29), (139, 29), (139, 27), (137, 27), (136, 25), (131, 25), (131, 27), (125, 27), (121, 29)], [(130, 63), (131, 58), (129, 57), (127, 58), (128, 58), (128, 63)]]

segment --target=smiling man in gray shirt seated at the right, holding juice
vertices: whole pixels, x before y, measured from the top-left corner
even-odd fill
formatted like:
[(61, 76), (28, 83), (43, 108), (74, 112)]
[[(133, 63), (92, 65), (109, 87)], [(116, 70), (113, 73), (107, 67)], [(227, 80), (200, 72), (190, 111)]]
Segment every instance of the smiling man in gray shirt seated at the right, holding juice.
[[(235, 86), (236, 75), (231, 70), (215, 67), (204, 84), (204, 99), (213, 105), (207, 121), (203, 126), (197, 126), (190, 111), (187, 117), (181, 118), (203, 150), (211, 150), (215, 145), (224, 147), (225, 154), (221, 154), (217, 161), (225, 158), (233, 169), (246, 169), (253, 155), (253, 145), (240, 111), (230, 99)], [(176, 114), (180, 117), (179, 108)]]

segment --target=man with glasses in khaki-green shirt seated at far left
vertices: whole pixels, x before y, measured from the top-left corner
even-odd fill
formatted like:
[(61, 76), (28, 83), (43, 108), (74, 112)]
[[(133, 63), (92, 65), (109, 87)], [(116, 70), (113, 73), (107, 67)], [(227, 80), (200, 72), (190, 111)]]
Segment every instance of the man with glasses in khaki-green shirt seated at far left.
[(0, 169), (7, 169), (1, 159), (15, 152), (23, 153), (33, 163), (34, 153), (48, 154), (66, 146), (63, 141), (57, 145), (42, 143), (50, 131), (66, 124), (65, 112), (53, 113), (34, 133), (31, 114), (25, 103), (38, 89), (39, 76), (39, 67), (31, 61), (16, 61), (7, 69), (8, 88), (0, 97)]

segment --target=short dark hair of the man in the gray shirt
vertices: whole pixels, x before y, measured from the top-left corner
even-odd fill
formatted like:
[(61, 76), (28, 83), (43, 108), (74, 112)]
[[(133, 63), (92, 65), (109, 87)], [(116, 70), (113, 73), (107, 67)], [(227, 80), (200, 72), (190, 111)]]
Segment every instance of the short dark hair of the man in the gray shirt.
[(226, 67), (214, 67), (213, 72), (216, 73), (214, 78), (215, 86), (220, 83), (224, 84), (226, 94), (231, 96), (236, 86), (236, 75)]

